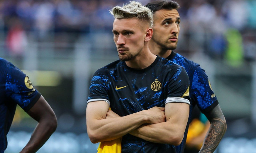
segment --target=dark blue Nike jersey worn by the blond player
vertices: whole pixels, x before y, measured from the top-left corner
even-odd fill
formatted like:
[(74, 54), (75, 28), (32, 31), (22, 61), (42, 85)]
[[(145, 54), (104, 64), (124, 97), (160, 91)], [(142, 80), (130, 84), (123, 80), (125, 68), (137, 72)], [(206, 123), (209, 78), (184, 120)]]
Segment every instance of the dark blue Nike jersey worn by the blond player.
[[(181, 66), (157, 57), (147, 68), (135, 70), (117, 60), (97, 70), (90, 83), (89, 102), (104, 100), (120, 116), (165, 107), (166, 99), (189, 101), (189, 79)], [(176, 101), (177, 102), (177, 101)], [(122, 153), (176, 153), (175, 146), (145, 141), (130, 134), (122, 138)]]

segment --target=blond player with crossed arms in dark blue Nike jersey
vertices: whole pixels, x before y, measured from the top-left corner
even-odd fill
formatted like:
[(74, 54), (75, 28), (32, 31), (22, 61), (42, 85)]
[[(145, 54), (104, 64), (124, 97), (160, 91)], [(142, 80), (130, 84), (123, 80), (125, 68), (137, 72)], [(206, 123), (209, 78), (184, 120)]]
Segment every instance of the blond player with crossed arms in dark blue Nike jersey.
[[(131, 1), (111, 13), (120, 60), (91, 79), (88, 136), (93, 143), (122, 137), (122, 153), (176, 153), (174, 145), (182, 141), (189, 114), (187, 72), (150, 52), (150, 9)], [(117, 115), (110, 117), (113, 113)]]

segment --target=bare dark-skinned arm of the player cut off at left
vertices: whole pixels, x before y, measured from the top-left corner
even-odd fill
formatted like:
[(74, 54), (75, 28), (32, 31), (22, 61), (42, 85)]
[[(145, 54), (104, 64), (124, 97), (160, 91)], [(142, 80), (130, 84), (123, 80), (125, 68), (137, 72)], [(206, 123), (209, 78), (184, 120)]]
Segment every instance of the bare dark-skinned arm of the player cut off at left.
[(35, 127), (29, 142), (20, 153), (35, 153), (45, 144), (56, 130), (57, 118), (42, 95), (27, 113), (35, 119), (38, 124)]

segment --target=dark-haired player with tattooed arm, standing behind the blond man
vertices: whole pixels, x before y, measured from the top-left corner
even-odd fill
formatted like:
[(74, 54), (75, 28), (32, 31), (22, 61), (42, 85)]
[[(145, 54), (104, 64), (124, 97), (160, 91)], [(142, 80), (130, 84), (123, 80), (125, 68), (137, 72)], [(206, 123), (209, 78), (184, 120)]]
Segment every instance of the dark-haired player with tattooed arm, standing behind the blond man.
[[(146, 5), (153, 12), (153, 36), (149, 42), (150, 51), (153, 54), (166, 58), (182, 67), (189, 76), (189, 97), (191, 98), (189, 121), (193, 107), (197, 105), (200, 111), (206, 115), (211, 126), (204, 139), (200, 153), (213, 153), (226, 132), (226, 120), (216, 95), (212, 91), (210, 81), (206, 72), (199, 64), (174, 52), (177, 48), (178, 35), (180, 32), (180, 15), (177, 11), (179, 4), (171, 0), (152, 1)], [(188, 125), (184, 138), (176, 147), (177, 153), (184, 151), (187, 138)]]

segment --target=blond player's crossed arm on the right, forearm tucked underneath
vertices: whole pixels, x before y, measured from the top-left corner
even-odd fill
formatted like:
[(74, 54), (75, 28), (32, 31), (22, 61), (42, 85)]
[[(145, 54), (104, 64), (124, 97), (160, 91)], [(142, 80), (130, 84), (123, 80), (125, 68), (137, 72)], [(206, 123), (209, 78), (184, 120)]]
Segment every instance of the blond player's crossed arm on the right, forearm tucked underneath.
[(187, 103), (167, 103), (165, 105), (166, 122), (143, 125), (130, 134), (150, 142), (179, 145), (184, 137), (188, 115)]

